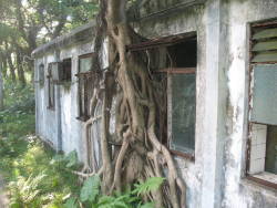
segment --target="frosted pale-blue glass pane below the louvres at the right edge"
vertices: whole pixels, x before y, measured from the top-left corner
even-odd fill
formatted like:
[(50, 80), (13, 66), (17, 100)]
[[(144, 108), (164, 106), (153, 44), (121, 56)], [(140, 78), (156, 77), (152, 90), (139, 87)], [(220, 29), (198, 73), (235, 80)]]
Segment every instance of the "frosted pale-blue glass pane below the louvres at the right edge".
[(252, 122), (277, 125), (277, 64), (254, 66)]

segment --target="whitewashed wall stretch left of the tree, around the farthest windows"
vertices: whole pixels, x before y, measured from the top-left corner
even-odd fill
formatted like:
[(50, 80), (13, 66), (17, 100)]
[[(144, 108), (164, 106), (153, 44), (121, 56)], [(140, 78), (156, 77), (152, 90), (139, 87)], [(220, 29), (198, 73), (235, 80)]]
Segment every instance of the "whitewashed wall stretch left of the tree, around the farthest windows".
[[(44, 86), (41, 87), (39, 83), (35, 84), (37, 98), (37, 134), (45, 142), (50, 142), (55, 149), (61, 149), (64, 153), (76, 150), (80, 160), (83, 160), (83, 142), (82, 129), (83, 122), (76, 119), (79, 114), (78, 105), (78, 60), (79, 55), (91, 53), (92, 42), (73, 45), (71, 48), (59, 49), (59, 59), (72, 59), (71, 84), (55, 85), (55, 110), (48, 110), (48, 83), (44, 80)], [(44, 63), (44, 77), (47, 77), (48, 63), (55, 61), (54, 53), (50, 52), (35, 60), (35, 65)], [(35, 71), (38, 73), (38, 70)], [(60, 90), (60, 93), (58, 91)], [(58, 95), (60, 94), (60, 97)], [(61, 113), (59, 115), (58, 105), (60, 102)], [(59, 143), (59, 124), (58, 117), (61, 119), (61, 147)]]

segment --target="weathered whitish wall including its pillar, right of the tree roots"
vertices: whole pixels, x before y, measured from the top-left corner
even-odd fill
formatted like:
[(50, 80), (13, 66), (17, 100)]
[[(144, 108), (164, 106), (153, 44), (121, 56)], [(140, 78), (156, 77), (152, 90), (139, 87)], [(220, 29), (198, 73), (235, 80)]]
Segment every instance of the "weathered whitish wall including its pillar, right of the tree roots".
[[(157, 9), (158, 10), (158, 9)], [(197, 32), (195, 162), (176, 157), (188, 207), (276, 207), (276, 193), (245, 178), (248, 23), (277, 17), (276, 0), (208, 0), (137, 23), (148, 38)]]

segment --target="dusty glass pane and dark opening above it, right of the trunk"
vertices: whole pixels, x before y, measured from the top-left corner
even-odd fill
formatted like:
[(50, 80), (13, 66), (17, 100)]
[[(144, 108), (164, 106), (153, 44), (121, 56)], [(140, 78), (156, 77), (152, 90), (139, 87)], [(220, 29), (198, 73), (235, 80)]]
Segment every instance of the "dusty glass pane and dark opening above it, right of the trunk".
[(172, 62), (167, 71), (170, 148), (194, 155), (196, 40), (184, 40), (167, 50)]

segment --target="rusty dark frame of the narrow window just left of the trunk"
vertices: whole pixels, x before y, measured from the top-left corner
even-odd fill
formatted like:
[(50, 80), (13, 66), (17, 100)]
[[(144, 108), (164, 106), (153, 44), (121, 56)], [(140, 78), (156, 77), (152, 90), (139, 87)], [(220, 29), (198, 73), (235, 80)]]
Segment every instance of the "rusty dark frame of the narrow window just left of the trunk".
[[(81, 86), (81, 85), (88, 84), (89, 81), (85, 81), (86, 83), (81, 84), (80, 79), (83, 76), (84, 79), (91, 79), (91, 81), (93, 81), (91, 70), (89, 70), (88, 72), (81, 72), (81, 60), (86, 59), (86, 58), (92, 58), (93, 55), (94, 53), (92, 52), (92, 53), (85, 53), (85, 54), (78, 56), (78, 73), (75, 74), (75, 76), (78, 77), (78, 117), (76, 119), (81, 122), (86, 122), (90, 118), (90, 115), (89, 115), (90, 114), (89, 112), (90, 98), (89, 97), (85, 98), (85, 92), (88, 91), (88, 90), (85, 91), (85, 89), (88, 89), (88, 86)], [(84, 91), (84, 97), (81, 91)], [(88, 104), (86, 111), (85, 111), (85, 103)], [(84, 105), (84, 111), (82, 108), (82, 105)]]

